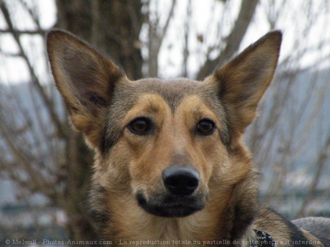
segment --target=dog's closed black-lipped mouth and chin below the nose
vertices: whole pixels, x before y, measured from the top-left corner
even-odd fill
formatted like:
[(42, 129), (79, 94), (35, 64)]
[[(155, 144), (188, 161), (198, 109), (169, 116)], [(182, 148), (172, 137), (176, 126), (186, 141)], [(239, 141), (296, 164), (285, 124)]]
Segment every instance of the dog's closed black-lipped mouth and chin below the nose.
[(149, 200), (142, 192), (136, 195), (138, 205), (147, 213), (159, 217), (186, 217), (205, 207), (205, 196), (178, 197), (170, 194), (153, 194)]

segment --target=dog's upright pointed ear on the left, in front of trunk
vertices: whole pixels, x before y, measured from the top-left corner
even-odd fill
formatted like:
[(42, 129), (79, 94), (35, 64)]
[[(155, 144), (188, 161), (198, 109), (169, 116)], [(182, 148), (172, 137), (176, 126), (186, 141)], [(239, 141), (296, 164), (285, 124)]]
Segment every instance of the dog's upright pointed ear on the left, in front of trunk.
[(97, 119), (100, 121), (115, 84), (124, 74), (111, 61), (67, 32), (50, 31), (47, 52), (71, 122), (88, 139), (92, 130), (101, 128)]

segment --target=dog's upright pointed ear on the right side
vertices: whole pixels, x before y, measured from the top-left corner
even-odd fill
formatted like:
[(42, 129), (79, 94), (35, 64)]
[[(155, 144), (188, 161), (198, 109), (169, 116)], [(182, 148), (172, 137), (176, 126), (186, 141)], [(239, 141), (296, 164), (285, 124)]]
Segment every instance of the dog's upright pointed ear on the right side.
[(281, 38), (280, 31), (267, 33), (206, 79), (216, 87), (234, 136), (242, 134), (256, 115), (276, 68)]

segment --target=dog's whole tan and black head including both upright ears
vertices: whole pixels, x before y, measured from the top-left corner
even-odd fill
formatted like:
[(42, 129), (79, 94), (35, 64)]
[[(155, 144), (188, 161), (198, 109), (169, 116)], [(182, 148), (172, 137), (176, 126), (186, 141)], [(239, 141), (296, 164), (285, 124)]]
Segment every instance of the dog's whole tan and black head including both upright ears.
[(48, 34), (47, 50), (71, 122), (98, 157), (101, 186), (153, 215), (184, 217), (250, 171), (240, 137), (272, 79), (280, 40), (266, 34), (202, 82), (129, 81), (61, 31)]

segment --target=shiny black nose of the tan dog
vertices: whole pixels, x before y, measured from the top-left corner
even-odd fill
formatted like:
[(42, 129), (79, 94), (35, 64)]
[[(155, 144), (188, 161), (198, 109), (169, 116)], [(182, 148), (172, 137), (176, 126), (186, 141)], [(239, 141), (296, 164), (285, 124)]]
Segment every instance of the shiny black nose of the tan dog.
[(187, 196), (197, 189), (199, 174), (192, 168), (171, 166), (162, 173), (162, 181), (172, 194)]

